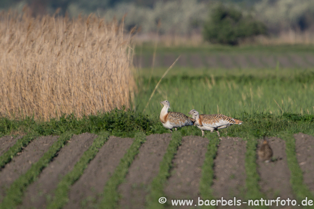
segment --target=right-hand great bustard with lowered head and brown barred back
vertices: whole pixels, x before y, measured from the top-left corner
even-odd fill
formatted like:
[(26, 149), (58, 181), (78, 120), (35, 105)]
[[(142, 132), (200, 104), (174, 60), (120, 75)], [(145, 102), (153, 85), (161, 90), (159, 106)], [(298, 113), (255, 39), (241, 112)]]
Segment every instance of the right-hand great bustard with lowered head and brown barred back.
[(202, 130), (202, 136), (204, 136), (204, 131), (208, 130), (211, 133), (214, 132), (214, 130), (217, 131), (218, 136), (220, 137), (218, 129), (226, 128), (232, 124), (242, 124), (241, 120), (231, 118), (229, 116), (225, 116), (222, 114), (212, 114), (212, 115), (206, 115), (206, 114), (199, 114), (196, 110), (191, 110), (189, 114), (192, 115), (192, 118), (195, 119), (195, 125), (199, 129)]

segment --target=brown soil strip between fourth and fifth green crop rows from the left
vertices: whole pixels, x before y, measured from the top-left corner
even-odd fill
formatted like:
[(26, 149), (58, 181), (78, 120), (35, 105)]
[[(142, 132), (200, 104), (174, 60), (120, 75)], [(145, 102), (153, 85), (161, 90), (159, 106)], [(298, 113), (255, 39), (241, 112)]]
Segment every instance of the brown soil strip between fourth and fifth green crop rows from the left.
[(122, 196), (119, 208), (145, 208), (147, 187), (159, 172), (159, 164), (166, 153), (171, 134), (152, 134), (146, 138), (128, 170), (125, 183), (119, 186)]

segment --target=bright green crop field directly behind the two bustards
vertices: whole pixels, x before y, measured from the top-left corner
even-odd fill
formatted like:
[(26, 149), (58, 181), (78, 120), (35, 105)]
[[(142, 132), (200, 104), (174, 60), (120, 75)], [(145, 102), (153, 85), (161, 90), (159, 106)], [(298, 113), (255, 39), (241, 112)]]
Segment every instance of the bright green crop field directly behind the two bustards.
[[(191, 69), (192, 72), (192, 69)], [(222, 113), (240, 117), (243, 112), (264, 112), (277, 116), (284, 112), (314, 113), (314, 74), (286, 76), (171, 76), (158, 82), (143, 79), (138, 86), (135, 107), (156, 116), (160, 101), (169, 100), (172, 111), (187, 114), (196, 109), (204, 114)]]

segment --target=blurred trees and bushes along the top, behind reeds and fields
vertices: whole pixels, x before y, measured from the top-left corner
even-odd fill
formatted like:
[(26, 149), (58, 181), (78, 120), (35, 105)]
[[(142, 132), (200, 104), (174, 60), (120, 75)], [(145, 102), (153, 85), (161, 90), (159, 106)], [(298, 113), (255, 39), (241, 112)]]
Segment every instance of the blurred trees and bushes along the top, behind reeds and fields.
[(314, 43), (313, 0), (0, 0), (3, 10), (25, 5), (34, 16), (61, 8), (69, 17), (125, 17), (125, 30), (137, 27), (141, 43), (156, 37), (168, 45)]

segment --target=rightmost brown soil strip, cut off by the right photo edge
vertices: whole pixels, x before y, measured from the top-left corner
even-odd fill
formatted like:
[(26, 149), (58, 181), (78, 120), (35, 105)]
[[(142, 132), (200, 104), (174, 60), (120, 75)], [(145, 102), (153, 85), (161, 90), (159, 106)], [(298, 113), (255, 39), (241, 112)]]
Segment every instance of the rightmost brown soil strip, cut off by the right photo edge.
[(298, 133), (295, 137), (295, 152), (303, 171), (303, 182), (314, 192), (314, 137)]

